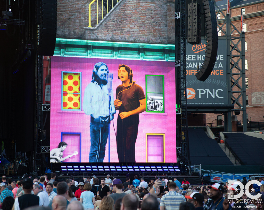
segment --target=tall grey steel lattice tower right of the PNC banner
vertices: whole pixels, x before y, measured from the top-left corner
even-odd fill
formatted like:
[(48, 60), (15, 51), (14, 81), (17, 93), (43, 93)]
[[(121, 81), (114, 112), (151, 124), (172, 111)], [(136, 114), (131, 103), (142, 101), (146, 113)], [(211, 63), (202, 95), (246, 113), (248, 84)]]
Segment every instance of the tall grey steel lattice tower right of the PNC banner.
[[(243, 113), (243, 132), (247, 132), (247, 110), (246, 110), (246, 69), (245, 69), (245, 32), (240, 32), (232, 20), (230, 14), (224, 14), (216, 5), (216, 15), (221, 14), (224, 19), (216, 19), (218, 31), (227, 37), (227, 80), (228, 83), (228, 103), (237, 105)], [(240, 24), (239, 24), (240, 25)], [(232, 111), (228, 111), (227, 131), (232, 132)], [(225, 120), (226, 121), (226, 120)]]

